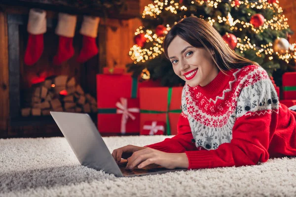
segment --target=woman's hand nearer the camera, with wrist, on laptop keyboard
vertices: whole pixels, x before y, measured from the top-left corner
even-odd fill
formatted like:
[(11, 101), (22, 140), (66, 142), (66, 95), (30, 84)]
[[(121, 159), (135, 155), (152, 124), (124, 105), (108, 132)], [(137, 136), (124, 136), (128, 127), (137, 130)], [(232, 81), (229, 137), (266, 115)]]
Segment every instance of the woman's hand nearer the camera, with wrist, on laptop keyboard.
[(152, 148), (135, 151), (130, 158), (127, 159), (127, 168), (132, 169), (138, 165), (143, 168), (149, 164), (158, 164), (168, 169), (176, 167), (188, 168), (188, 159), (185, 153), (165, 153)]

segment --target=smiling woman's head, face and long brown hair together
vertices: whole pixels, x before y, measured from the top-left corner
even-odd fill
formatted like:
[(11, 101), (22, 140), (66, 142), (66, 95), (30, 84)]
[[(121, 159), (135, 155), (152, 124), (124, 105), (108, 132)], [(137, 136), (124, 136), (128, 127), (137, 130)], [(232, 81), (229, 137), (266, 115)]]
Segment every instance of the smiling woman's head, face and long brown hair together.
[[(191, 87), (207, 85), (219, 70), (258, 65), (237, 55), (225, 44), (220, 33), (197, 17), (188, 17), (172, 28), (165, 37), (164, 51), (175, 73)], [(188, 76), (196, 69), (196, 77)]]

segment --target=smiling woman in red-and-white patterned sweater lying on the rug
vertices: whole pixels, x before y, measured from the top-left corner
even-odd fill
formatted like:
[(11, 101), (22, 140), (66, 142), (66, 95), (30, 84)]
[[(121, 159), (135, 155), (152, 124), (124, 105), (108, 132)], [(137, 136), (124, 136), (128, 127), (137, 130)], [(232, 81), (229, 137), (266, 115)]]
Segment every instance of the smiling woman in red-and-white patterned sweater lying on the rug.
[(237, 55), (206, 21), (188, 17), (177, 23), (164, 51), (186, 82), (178, 134), (118, 148), (112, 153), (117, 162), (198, 169), (296, 156), (296, 112), (279, 103), (266, 71)]

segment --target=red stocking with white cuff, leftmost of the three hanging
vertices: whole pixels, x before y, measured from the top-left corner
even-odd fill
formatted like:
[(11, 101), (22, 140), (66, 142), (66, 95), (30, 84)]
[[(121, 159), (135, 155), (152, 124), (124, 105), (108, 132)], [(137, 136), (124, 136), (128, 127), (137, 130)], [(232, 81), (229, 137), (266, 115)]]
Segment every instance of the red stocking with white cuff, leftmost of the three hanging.
[(34, 65), (43, 52), (43, 33), (46, 32), (46, 12), (40, 9), (30, 9), (27, 31), (29, 33), (24, 62)]

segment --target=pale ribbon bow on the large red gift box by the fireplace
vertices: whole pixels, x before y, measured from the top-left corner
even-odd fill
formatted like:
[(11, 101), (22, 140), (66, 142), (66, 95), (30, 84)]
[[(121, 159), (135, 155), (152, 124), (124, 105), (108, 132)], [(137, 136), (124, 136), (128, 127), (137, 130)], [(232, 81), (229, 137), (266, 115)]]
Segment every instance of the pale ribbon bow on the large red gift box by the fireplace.
[(115, 105), (116, 105), (116, 107), (118, 107), (118, 109), (116, 110), (116, 113), (122, 114), (120, 132), (125, 133), (128, 117), (130, 117), (132, 120), (136, 119), (136, 117), (133, 114), (131, 114), (130, 112), (139, 113), (140, 109), (137, 107), (127, 108), (127, 99), (126, 98), (120, 98), (120, 102), (116, 102)]

